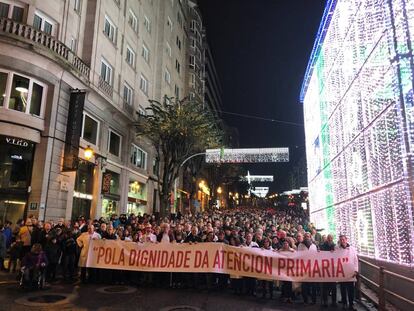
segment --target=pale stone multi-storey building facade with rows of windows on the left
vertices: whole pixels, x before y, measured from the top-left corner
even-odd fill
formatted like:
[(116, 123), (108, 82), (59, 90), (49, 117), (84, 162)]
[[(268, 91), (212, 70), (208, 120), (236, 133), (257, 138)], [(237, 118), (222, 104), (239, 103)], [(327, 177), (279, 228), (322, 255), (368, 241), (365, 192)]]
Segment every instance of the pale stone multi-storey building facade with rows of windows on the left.
[(181, 0), (0, 0), (1, 221), (159, 210), (133, 124), (149, 99), (188, 95), (188, 14)]

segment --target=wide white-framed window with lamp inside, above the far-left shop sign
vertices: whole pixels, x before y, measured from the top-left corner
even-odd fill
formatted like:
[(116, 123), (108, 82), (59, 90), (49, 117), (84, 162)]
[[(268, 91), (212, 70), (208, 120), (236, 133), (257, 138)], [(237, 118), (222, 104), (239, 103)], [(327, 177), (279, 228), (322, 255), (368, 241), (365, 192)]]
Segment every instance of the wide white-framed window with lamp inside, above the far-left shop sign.
[(26, 75), (0, 69), (0, 107), (43, 117), (47, 86)]

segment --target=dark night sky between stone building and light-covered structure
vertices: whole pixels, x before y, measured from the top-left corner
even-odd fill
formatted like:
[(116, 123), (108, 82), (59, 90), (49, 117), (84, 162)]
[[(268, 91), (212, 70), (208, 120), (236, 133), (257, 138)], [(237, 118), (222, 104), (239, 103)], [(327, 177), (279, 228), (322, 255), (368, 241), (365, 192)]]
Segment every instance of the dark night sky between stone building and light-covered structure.
[[(223, 111), (303, 124), (299, 93), (325, 2), (199, 0)], [(274, 175), (271, 191), (290, 190), (287, 175), (305, 154), (303, 126), (222, 117), (238, 128), (240, 148), (289, 147), (290, 163), (247, 168), (252, 175)]]

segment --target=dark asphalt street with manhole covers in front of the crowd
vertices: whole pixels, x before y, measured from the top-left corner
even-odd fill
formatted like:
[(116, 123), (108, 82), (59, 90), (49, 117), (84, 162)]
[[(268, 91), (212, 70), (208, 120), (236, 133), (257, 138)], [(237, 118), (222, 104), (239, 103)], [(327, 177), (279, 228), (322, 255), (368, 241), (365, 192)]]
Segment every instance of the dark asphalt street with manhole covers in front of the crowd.
[[(14, 275), (0, 272), (0, 310), (314, 311), (341, 308), (322, 308), (320, 304), (304, 306), (299, 303), (281, 303), (278, 298), (271, 300), (237, 296), (230, 291), (84, 285), (59, 281), (43, 290), (27, 291), (19, 288)], [(365, 309), (357, 306), (357, 310)]]

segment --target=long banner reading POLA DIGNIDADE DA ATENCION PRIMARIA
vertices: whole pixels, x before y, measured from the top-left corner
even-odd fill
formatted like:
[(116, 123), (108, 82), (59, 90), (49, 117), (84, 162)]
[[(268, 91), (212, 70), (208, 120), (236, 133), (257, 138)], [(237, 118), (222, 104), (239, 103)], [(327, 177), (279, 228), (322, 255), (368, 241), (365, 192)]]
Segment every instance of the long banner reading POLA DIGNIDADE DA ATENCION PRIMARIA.
[(355, 281), (358, 260), (352, 249), (334, 252), (269, 251), (222, 243), (134, 243), (92, 240), (90, 268), (226, 273), (294, 282)]

